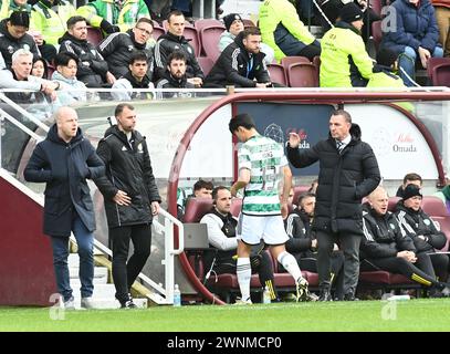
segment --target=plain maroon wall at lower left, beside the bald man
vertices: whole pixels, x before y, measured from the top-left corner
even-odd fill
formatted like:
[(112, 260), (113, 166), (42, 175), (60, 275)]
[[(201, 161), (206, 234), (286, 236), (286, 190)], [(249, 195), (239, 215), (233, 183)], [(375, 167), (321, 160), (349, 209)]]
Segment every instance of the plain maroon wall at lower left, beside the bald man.
[(0, 305), (53, 305), (52, 248), (42, 207), (0, 177)]

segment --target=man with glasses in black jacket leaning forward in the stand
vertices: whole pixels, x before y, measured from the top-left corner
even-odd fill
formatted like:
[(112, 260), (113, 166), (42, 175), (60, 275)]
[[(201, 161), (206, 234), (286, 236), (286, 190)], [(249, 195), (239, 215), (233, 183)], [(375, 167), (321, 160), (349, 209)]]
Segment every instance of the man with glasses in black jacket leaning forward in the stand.
[(153, 80), (154, 55), (148, 43), (151, 40), (153, 22), (140, 18), (135, 27), (125, 33), (109, 34), (98, 44), (98, 52), (108, 63), (112, 74), (119, 79), (128, 72), (129, 60), (135, 52), (147, 55), (147, 76)]

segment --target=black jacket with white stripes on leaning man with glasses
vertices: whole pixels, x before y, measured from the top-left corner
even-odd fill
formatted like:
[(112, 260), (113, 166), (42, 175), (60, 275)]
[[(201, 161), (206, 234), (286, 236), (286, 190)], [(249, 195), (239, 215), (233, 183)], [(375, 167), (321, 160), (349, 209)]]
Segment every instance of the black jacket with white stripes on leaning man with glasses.
[(151, 81), (154, 70), (153, 50), (147, 49), (146, 44), (137, 43), (133, 30), (128, 30), (125, 33), (112, 33), (98, 44), (98, 52), (106, 60), (111, 73), (116, 79), (124, 76), (128, 72), (129, 61), (137, 51), (144, 52), (147, 55), (147, 76)]

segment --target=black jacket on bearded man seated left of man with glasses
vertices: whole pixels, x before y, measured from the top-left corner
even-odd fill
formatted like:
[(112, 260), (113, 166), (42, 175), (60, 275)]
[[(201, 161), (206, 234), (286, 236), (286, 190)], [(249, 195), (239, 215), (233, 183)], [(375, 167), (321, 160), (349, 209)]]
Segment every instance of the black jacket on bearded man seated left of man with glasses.
[(79, 40), (65, 32), (59, 40), (60, 53), (71, 52), (79, 58), (76, 79), (87, 87), (101, 87), (105, 82), (108, 63), (97, 52), (95, 46), (86, 40)]

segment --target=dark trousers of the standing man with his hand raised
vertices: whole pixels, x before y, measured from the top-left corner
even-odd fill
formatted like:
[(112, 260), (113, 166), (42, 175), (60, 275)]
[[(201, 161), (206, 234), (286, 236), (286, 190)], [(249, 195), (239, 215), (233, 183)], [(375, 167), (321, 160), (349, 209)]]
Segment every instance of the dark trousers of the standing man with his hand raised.
[(359, 278), (360, 235), (317, 231), (317, 273), (320, 285), (331, 283), (331, 258), (334, 243), (344, 253), (344, 294), (354, 296)]

